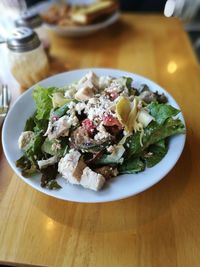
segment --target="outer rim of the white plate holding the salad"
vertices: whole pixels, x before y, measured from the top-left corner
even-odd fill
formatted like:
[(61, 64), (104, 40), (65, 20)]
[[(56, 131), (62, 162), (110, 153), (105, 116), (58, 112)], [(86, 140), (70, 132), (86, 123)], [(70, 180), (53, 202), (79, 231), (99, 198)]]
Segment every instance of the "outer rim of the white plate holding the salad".
[[(68, 199), (66, 197), (62, 197), (62, 196), (55, 196), (54, 194), (52, 194), (52, 192), (54, 191), (46, 191), (45, 189), (43, 189), (41, 186), (38, 186), (38, 185), (35, 185), (34, 183), (31, 183), (29, 182), (30, 180), (28, 178), (25, 178), (21, 175), (20, 173), (20, 170), (19, 168), (17, 168), (15, 166), (15, 162), (13, 162), (11, 159), (10, 159), (10, 156), (8, 155), (7, 153), (7, 149), (6, 149), (6, 143), (5, 143), (5, 135), (6, 135), (6, 125), (7, 125), (7, 121), (9, 121), (9, 117), (10, 117), (10, 114), (12, 114), (12, 110), (15, 109), (15, 106), (18, 105), (18, 102), (26, 95), (26, 94), (29, 94), (31, 91), (34, 90), (34, 87), (37, 85), (37, 84), (40, 84), (40, 83), (45, 83), (47, 80), (49, 80), (50, 78), (54, 79), (55, 77), (59, 77), (59, 76), (62, 76), (62, 75), (72, 75), (72, 74), (75, 74), (75, 73), (79, 73), (79, 72), (87, 72), (87, 71), (105, 71), (105, 72), (108, 72), (108, 75), (109, 75), (109, 71), (110, 72), (120, 72), (122, 73), (122, 75), (127, 75), (127, 76), (130, 76), (130, 77), (139, 77), (140, 79), (145, 79), (147, 83), (152, 83), (156, 86), (158, 86), (162, 91), (164, 91), (168, 96), (170, 96), (170, 98), (176, 103), (177, 107), (180, 109), (180, 106), (179, 104), (177, 103), (177, 101), (173, 98), (173, 96), (167, 91), (165, 90), (162, 86), (160, 86), (159, 84), (157, 84), (156, 82), (152, 81), (151, 79), (147, 78), (147, 77), (144, 77), (142, 75), (139, 75), (137, 73), (132, 73), (132, 72), (127, 72), (127, 71), (124, 71), (124, 70), (121, 70), (121, 69), (113, 69), (113, 68), (80, 68), (80, 69), (76, 69), (76, 70), (71, 70), (71, 71), (67, 71), (67, 72), (62, 72), (62, 73), (59, 73), (59, 74), (56, 74), (56, 75), (53, 75), (53, 76), (50, 76), (46, 79), (43, 79), (41, 81), (39, 81), (38, 83), (34, 84), (33, 86), (31, 86), (29, 89), (27, 89), (23, 94), (21, 94), (14, 102), (14, 104), (12, 105), (12, 107), (10, 108), (7, 116), (6, 116), (6, 119), (4, 121), (4, 124), (3, 124), (3, 128), (2, 128), (2, 147), (3, 147), (3, 151), (4, 151), (4, 154), (6, 156), (6, 159), (9, 163), (9, 165), (11, 166), (11, 168), (13, 169), (14, 173), (17, 174), (17, 176), (19, 176), (26, 184), (28, 184), (29, 186), (31, 186), (32, 188), (36, 189), (37, 191), (41, 192), (41, 193), (44, 193), (45, 195), (48, 195), (48, 196), (51, 196), (51, 197), (55, 197), (57, 199), (62, 199), (62, 200), (65, 200), (65, 201), (71, 201), (71, 202), (78, 202), (78, 203), (104, 203), (104, 202), (112, 202), (112, 201), (116, 201), (116, 200), (121, 200), (121, 199), (125, 199), (125, 198), (128, 198), (128, 197), (132, 197), (132, 196), (135, 196), (143, 191), (146, 191), (148, 188), (151, 188), (153, 185), (157, 184), (159, 181), (161, 181), (173, 168), (174, 166), (176, 165), (177, 161), (179, 160), (182, 152), (183, 152), (183, 149), (184, 149), (184, 146), (185, 146), (185, 141), (186, 141), (186, 131), (185, 131), (185, 134), (182, 134), (182, 143), (181, 143), (181, 147), (179, 148), (179, 151), (178, 153), (176, 154), (176, 159), (174, 160), (173, 164), (171, 164), (170, 168), (166, 169), (165, 172), (162, 173), (162, 175), (159, 177), (159, 179), (157, 179), (156, 181), (152, 182), (150, 185), (149, 184), (146, 184), (142, 190), (139, 189), (137, 190), (135, 193), (132, 193), (132, 194), (124, 194), (123, 196), (121, 197), (108, 197), (108, 198), (104, 198), (103, 200), (101, 199), (97, 199), (97, 200), (92, 200), (90, 201), (89, 199), (84, 199), (84, 200), (76, 200), (76, 199)], [(185, 119), (184, 119), (184, 116), (183, 116), (183, 112), (182, 110), (180, 109), (180, 117), (181, 117), (181, 120), (183, 121), (185, 127), (186, 127), (186, 123), (185, 123)], [(144, 171), (145, 172), (145, 171)], [(127, 174), (126, 174), (127, 175)], [(133, 175), (133, 174), (129, 174), (129, 175)], [(97, 192), (98, 193), (98, 192)]]

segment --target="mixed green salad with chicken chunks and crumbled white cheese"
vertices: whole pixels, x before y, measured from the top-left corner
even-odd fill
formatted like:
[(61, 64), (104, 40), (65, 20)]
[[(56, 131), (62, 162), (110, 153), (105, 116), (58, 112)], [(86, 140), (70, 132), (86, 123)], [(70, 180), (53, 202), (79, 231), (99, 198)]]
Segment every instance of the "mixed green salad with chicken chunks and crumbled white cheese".
[[(169, 137), (183, 134), (180, 112), (164, 94), (130, 77), (88, 72), (62, 88), (33, 91), (35, 113), (19, 136), (23, 176), (42, 174), (41, 186), (70, 184), (98, 191), (118, 174), (137, 173), (160, 162)], [(121, 178), (123, 179), (123, 178)]]

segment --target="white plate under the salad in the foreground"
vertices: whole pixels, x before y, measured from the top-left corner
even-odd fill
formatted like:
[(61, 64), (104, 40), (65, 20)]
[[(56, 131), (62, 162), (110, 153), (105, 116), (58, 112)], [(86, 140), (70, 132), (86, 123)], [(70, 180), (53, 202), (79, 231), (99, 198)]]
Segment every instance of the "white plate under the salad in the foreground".
[[(147, 84), (152, 91), (164, 93), (168, 97), (169, 103), (179, 109), (179, 106), (173, 97), (156, 83), (142, 76), (120, 70), (80, 69), (52, 76), (39, 82), (39, 84), (44, 87), (64, 86), (80, 79), (89, 70), (94, 71), (97, 75), (132, 77), (134, 80), (133, 85), (136, 88), (140, 84)], [(35, 111), (35, 105), (32, 99), (33, 89), (34, 86), (19, 97), (9, 111), (3, 126), (2, 142), (7, 160), (16, 174), (30, 186), (47, 195), (76, 202), (107, 202), (130, 197), (146, 190), (160, 181), (174, 167), (182, 153), (185, 144), (185, 135), (183, 134), (170, 138), (169, 151), (164, 159), (162, 159), (156, 166), (146, 169), (144, 172), (138, 174), (127, 174), (113, 178), (109, 180), (105, 188), (99, 192), (90, 191), (77, 185), (70, 185), (63, 178), (58, 178), (59, 183), (62, 185), (62, 189), (60, 190), (51, 191), (42, 188), (40, 187), (39, 175), (32, 178), (24, 178), (21, 175), (20, 170), (15, 166), (15, 161), (22, 155), (22, 152), (18, 149), (17, 145), (18, 137), (23, 131), (25, 121)], [(179, 114), (179, 118), (184, 122), (182, 114)]]

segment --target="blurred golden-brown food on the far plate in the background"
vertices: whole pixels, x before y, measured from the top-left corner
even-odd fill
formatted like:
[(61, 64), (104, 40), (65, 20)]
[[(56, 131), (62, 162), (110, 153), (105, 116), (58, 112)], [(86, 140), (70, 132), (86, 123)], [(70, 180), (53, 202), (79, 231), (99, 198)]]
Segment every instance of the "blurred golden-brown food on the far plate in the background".
[(60, 26), (89, 25), (104, 20), (119, 9), (116, 1), (95, 1), (90, 5), (52, 5), (42, 18)]

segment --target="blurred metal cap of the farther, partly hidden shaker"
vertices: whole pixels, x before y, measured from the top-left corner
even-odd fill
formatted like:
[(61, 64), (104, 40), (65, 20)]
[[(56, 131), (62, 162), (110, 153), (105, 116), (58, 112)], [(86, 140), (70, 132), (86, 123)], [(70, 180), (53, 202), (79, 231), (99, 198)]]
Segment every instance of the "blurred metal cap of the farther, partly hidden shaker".
[(27, 11), (15, 20), (15, 25), (17, 27), (29, 27), (34, 29), (41, 26), (42, 22), (42, 18), (39, 14)]

